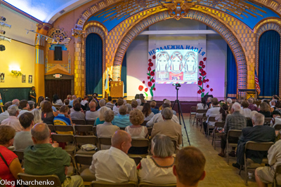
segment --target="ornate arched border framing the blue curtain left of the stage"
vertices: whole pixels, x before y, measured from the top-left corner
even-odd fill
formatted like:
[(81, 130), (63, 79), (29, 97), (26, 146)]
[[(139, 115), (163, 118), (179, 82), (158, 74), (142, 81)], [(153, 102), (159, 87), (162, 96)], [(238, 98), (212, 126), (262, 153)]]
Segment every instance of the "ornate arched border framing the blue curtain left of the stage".
[[(83, 42), (83, 58), (82, 58), (82, 63), (83, 63), (83, 67), (84, 67), (84, 93), (86, 94), (86, 38), (89, 34), (98, 34), (98, 36), (100, 36), (100, 39), (102, 39), (103, 41), (103, 72), (105, 72), (105, 39), (107, 36), (107, 29), (101, 25), (98, 22), (89, 22), (85, 27), (85, 37), (84, 37), (84, 42)], [(103, 80), (105, 74), (103, 74)], [(104, 84), (103, 84), (104, 87)], [(103, 88), (104, 90), (104, 88)]]

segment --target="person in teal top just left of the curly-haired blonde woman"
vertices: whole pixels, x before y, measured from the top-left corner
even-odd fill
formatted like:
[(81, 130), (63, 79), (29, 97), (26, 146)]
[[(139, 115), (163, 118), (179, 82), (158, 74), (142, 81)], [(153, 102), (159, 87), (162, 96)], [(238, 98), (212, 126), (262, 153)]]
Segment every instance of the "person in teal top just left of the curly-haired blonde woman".
[(112, 120), (112, 124), (116, 125), (117, 127), (127, 127), (132, 125), (129, 119), (129, 116), (127, 116), (128, 107), (126, 105), (122, 105), (119, 107), (119, 115), (115, 116), (115, 118)]

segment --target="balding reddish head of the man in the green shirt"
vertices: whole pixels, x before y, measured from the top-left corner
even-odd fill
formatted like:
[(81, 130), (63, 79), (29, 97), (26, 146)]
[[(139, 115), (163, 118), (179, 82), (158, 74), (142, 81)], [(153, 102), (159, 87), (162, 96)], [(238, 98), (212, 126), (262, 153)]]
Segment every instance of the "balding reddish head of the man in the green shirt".
[(31, 134), (35, 142), (46, 141), (50, 139), (50, 133), (51, 132), (48, 129), (48, 125), (46, 125), (46, 123), (37, 123), (31, 130)]

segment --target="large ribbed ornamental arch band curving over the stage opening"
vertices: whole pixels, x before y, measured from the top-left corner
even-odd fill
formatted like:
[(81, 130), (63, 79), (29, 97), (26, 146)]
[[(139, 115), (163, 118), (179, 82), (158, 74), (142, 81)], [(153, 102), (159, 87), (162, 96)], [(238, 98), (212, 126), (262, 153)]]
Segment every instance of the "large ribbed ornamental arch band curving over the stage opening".
[[(124, 36), (124, 38), (122, 39), (121, 43), (117, 48), (117, 52), (115, 53), (115, 59), (113, 62), (114, 76), (119, 76), (121, 74), (120, 71), (121, 71), (124, 54), (126, 53), (126, 50), (131, 44), (131, 42), (133, 41), (133, 39), (135, 39), (136, 36), (138, 36), (138, 34), (143, 32), (145, 28), (150, 27), (150, 25), (153, 25), (156, 22), (166, 20), (169, 18), (171, 17), (167, 13), (167, 11), (155, 13), (153, 15), (148, 16), (148, 18), (141, 20), (141, 22), (138, 22), (137, 25), (135, 25), (129, 32), (126, 33), (126, 36)], [(226, 42), (230, 46), (235, 56), (236, 67), (237, 67), (237, 89), (247, 88), (246, 57), (240, 42), (237, 40), (233, 32), (231, 32), (230, 29), (226, 27), (226, 25), (223, 25), (223, 23), (217, 20), (216, 18), (206, 13), (202, 13), (200, 11), (190, 10), (185, 18), (203, 22), (204, 24), (216, 30), (216, 32), (218, 32), (218, 34), (220, 34), (223, 37), (223, 39), (226, 40)]]

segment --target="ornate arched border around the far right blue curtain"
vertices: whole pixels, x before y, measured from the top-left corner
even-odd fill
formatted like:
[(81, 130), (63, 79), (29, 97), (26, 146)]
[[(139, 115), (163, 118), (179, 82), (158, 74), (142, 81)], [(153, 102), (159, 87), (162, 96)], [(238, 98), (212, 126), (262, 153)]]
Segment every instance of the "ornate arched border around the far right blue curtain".
[(280, 67), (279, 67), (279, 96), (281, 96), (281, 25), (277, 22), (266, 22), (256, 29), (256, 60), (255, 60), (255, 68), (256, 73), (259, 74), (259, 39), (264, 32), (269, 30), (273, 30), (280, 35)]

